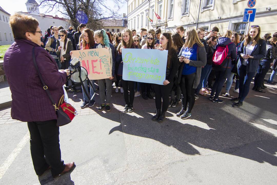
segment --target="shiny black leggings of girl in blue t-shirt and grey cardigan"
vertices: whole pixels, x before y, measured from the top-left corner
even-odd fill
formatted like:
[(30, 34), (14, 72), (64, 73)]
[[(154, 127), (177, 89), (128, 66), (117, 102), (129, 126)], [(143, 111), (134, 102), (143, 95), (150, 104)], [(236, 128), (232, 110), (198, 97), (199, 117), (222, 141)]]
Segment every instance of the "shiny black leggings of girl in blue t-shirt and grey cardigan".
[(186, 110), (188, 113), (191, 112), (195, 98), (193, 82), (194, 82), (195, 73), (190, 75), (182, 75), (180, 87), (182, 92), (182, 110)]

